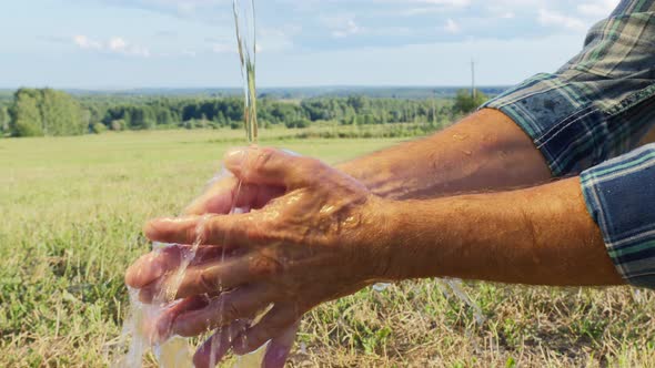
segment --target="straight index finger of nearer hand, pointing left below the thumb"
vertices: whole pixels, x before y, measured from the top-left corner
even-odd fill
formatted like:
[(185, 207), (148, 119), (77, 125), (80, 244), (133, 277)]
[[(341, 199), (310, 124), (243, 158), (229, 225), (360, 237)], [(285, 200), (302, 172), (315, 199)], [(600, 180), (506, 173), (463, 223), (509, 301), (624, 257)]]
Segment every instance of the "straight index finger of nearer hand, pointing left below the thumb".
[(253, 214), (206, 215), (180, 218), (159, 218), (148, 223), (143, 229), (153, 242), (169, 244), (215, 245), (224, 247), (244, 246), (256, 241), (264, 224)]

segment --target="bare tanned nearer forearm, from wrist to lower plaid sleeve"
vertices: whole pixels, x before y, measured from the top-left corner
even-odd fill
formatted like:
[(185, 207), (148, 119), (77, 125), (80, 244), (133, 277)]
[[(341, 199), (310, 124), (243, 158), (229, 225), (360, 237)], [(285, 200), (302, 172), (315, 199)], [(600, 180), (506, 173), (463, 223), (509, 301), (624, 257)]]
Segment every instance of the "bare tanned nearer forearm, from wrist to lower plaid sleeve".
[(392, 202), (391, 278), (617, 285), (578, 178), (528, 190)]

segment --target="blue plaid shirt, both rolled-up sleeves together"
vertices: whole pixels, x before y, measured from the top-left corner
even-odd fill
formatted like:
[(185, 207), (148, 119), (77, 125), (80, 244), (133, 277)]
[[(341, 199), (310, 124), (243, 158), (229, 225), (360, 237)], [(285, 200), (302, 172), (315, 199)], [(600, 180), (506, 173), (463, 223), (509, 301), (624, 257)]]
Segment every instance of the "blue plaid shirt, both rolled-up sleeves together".
[(655, 288), (655, 144), (629, 152), (655, 125), (655, 0), (623, 0), (562, 69), (483, 108), (512, 117), (555, 176), (581, 174), (617, 270)]

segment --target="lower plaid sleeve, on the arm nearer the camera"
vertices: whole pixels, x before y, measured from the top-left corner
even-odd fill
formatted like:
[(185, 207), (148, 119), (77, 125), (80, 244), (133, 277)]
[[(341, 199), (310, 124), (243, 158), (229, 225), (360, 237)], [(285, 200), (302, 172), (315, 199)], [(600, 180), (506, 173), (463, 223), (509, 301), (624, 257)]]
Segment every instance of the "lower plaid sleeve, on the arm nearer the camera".
[(581, 182), (618, 273), (655, 289), (655, 144), (583, 172)]

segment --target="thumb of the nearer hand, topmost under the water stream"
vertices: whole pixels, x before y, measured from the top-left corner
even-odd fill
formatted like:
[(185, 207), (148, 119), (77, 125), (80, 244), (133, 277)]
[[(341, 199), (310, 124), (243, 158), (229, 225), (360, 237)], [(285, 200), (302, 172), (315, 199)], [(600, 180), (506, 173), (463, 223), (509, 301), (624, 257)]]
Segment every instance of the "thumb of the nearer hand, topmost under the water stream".
[(311, 185), (326, 167), (320, 161), (270, 147), (231, 150), (225, 154), (224, 164), (245, 183), (286, 190)]

